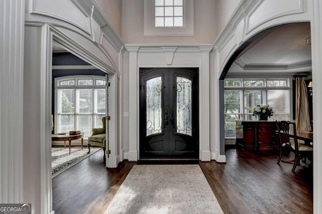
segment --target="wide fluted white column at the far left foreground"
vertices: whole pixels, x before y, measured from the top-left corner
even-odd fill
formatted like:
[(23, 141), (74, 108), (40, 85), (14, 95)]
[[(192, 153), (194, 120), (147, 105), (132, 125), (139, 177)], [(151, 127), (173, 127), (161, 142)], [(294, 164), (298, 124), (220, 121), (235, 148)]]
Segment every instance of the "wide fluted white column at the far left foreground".
[(0, 12), (0, 202), (22, 203), (25, 1), (2, 0)]

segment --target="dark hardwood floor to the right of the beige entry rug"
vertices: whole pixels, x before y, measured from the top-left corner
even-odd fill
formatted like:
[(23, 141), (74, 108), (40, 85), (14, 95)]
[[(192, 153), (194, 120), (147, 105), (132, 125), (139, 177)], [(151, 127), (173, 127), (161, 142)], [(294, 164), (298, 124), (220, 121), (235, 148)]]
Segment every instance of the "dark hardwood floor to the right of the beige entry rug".
[[(312, 169), (276, 164), (274, 152), (226, 151), (227, 164), (200, 166), (225, 213), (312, 213)], [(229, 199), (227, 199), (229, 198)]]

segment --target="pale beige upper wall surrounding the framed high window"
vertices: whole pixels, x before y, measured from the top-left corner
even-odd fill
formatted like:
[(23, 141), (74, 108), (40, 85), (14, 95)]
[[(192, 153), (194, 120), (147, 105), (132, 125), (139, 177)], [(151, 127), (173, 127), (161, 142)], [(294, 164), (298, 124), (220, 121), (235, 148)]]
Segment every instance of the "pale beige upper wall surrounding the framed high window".
[(195, 35), (187, 37), (144, 37), (143, 0), (122, 1), (122, 40), (126, 44), (209, 44), (218, 35), (216, 1), (195, 0)]

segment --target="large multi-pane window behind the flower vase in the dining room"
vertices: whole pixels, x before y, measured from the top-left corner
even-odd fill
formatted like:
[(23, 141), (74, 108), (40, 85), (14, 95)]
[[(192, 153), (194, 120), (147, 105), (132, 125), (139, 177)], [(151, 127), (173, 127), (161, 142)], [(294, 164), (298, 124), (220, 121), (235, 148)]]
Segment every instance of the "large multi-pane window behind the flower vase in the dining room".
[(290, 121), (290, 96), (289, 79), (225, 79), (225, 138), (235, 138), (236, 120), (257, 120), (252, 111), (256, 105), (272, 106), (269, 121)]

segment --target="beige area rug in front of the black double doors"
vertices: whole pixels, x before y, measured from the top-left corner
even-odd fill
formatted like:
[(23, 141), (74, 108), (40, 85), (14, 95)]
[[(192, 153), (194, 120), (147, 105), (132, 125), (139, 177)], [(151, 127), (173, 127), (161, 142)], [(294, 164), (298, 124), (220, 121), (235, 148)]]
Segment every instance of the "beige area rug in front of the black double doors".
[(134, 165), (105, 213), (223, 213), (199, 165)]

